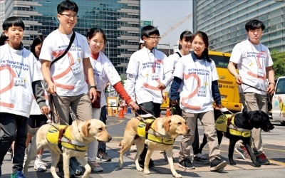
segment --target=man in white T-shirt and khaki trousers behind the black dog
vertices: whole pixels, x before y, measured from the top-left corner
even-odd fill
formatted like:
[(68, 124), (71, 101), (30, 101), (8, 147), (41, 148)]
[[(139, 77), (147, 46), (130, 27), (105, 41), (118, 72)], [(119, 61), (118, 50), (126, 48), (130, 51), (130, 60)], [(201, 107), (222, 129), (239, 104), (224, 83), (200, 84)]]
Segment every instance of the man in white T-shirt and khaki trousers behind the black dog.
[[(236, 83), (241, 85), (242, 93), (240, 94), (244, 96), (241, 98), (244, 98), (246, 103), (244, 108), (247, 111), (263, 110), (267, 112), (266, 93), (273, 94), (275, 90), (273, 61), (270, 51), (260, 43), (264, 28), (264, 23), (259, 20), (254, 19), (246, 23), (245, 29), (249, 38), (234, 46), (227, 67), (229, 72), (234, 75)], [(239, 69), (239, 73), (237, 73), (235, 66)], [(268, 87), (266, 86), (266, 76), (269, 79)], [(252, 130), (251, 145), (257, 162), (270, 164), (264, 155), (260, 128)], [(250, 159), (243, 145), (239, 145), (234, 150), (244, 159)]]

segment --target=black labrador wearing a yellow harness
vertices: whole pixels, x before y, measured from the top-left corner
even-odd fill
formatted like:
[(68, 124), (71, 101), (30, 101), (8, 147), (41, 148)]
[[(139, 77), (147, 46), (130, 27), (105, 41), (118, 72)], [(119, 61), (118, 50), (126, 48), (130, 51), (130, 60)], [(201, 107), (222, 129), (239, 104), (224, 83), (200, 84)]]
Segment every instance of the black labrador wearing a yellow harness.
[[(219, 123), (223, 122), (221, 117), (226, 117), (227, 125), (223, 131), (217, 127)], [(233, 116), (228, 117), (228, 115), (224, 115), (220, 110), (214, 110), (214, 119), (216, 121), (216, 129), (217, 129), (217, 137), (219, 145), (222, 142), (223, 135), (229, 138), (229, 164), (235, 165), (233, 155), (234, 155), (234, 146), (237, 141), (242, 140), (244, 146), (249, 152), (250, 158), (254, 163), (254, 167), (261, 167), (261, 163), (257, 162), (254, 157), (254, 153), (252, 152), (252, 148), (250, 146), (250, 130), (253, 128), (261, 128), (264, 132), (268, 132), (269, 130), (274, 129), (274, 125), (271, 124), (269, 120), (269, 116), (261, 111), (244, 111), (241, 113), (234, 114)], [(202, 144), (199, 147), (199, 151), (202, 152), (204, 145), (207, 144), (207, 138), (204, 135), (204, 139)]]

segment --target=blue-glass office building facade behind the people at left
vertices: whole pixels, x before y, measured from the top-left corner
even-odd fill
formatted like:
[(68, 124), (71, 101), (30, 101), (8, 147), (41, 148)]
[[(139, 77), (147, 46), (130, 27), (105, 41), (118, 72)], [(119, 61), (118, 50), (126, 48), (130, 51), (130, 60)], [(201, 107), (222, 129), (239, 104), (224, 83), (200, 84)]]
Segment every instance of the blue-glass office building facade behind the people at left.
[[(23, 43), (29, 48), (40, 34), (58, 28), (57, 5), (63, 0), (6, 0), (5, 19), (19, 16), (25, 23)], [(118, 73), (125, 73), (132, 53), (140, 41), (140, 0), (73, 0), (79, 7), (75, 31), (86, 36), (89, 28), (99, 27), (108, 42), (105, 55)], [(1, 1), (0, 1), (1, 5)], [(55, 39), (56, 40), (56, 39)]]

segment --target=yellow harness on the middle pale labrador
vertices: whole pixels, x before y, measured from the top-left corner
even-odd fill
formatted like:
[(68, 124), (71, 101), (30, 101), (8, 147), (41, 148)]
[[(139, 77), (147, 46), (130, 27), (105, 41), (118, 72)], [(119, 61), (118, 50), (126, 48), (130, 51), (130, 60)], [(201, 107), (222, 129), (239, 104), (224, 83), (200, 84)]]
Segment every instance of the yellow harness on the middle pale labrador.
[(175, 139), (171, 137), (162, 137), (159, 133), (153, 130), (152, 123), (155, 121), (153, 118), (147, 118), (145, 120), (140, 120), (138, 123), (138, 136), (144, 137), (152, 142), (162, 143), (165, 145), (173, 145)]

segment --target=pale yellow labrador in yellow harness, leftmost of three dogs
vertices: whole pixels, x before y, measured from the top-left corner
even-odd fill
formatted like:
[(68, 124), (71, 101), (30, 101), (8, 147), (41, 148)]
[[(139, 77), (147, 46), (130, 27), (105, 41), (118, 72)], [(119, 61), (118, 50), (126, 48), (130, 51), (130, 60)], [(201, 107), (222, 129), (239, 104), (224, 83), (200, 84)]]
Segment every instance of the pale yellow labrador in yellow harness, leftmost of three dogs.
[(89, 177), (91, 167), (85, 158), (89, 143), (94, 140), (109, 142), (111, 139), (112, 137), (108, 134), (105, 124), (97, 119), (75, 120), (71, 126), (43, 125), (38, 129), (31, 142), (31, 149), (24, 166), (24, 174), (27, 174), (28, 164), (38, 150), (46, 147), (51, 153), (51, 174), (54, 178), (59, 178), (56, 174), (56, 165), (60, 154), (63, 155), (64, 177), (69, 178), (69, 159), (71, 157), (76, 157), (78, 162), (85, 167), (86, 172), (82, 177)]

